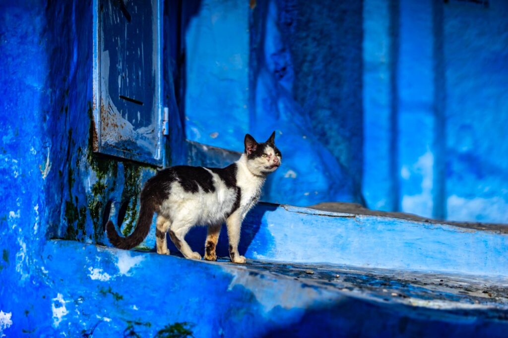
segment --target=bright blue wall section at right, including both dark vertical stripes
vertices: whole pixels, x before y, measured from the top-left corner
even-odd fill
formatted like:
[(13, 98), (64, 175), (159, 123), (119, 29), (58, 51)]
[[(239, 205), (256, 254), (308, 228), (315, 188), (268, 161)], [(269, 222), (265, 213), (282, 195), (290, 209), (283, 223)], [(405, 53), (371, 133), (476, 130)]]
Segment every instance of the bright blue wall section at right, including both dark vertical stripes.
[(366, 1), (367, 206), (508, 221), (506, 4)]

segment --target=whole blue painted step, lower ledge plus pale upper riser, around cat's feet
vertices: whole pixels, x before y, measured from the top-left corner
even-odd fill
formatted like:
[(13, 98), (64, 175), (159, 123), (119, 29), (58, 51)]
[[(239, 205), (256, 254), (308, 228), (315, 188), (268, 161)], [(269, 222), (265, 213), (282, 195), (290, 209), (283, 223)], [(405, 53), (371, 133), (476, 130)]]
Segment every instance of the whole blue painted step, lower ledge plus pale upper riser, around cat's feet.
[[(503, 336), (507, 237), (504, 226), (260, 204), (242, 230), (245, 265), (48, 241), (30, 265), (40, 278), (26, 290), (36, 299), (29, 316), (19, 296), (2, 299), (19, 310), (2, 333)], [(188, 239), (202, 250), (205, 229)], [(218, 254), (227, 255), (225, 234)]]

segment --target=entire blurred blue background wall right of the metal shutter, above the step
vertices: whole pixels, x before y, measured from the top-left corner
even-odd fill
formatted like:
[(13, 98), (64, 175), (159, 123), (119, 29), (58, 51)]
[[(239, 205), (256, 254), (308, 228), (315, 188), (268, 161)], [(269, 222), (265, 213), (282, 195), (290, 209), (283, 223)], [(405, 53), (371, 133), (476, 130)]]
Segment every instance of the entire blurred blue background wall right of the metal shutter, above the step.
[(278, 130), (265, 200), (508, 221), (502, 2), (195, 3), (186, 136)]

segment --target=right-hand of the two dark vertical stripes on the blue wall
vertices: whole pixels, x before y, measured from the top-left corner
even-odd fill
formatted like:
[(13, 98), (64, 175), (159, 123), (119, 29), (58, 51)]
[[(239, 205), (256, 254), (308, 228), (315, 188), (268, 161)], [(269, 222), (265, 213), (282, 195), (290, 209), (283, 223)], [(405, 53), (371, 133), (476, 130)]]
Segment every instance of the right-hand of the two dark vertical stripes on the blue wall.
[(434, 182), (432, 216), (446, 218), (446, 78), (443, 51), (443, 2), (432, 2), (434, 36)]

